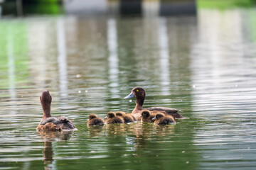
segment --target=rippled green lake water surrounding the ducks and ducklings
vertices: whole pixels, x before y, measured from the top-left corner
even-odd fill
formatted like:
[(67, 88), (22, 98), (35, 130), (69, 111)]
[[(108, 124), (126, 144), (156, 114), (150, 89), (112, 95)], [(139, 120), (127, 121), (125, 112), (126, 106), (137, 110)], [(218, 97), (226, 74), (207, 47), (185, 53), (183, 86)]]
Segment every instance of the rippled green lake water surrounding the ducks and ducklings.
[[(0, 169), (256, 169), (255, 14), (2, 19)], [(188, 119), (87, 127), (134, 86)], [(36, 132), (44, 89), (78, 131)]]

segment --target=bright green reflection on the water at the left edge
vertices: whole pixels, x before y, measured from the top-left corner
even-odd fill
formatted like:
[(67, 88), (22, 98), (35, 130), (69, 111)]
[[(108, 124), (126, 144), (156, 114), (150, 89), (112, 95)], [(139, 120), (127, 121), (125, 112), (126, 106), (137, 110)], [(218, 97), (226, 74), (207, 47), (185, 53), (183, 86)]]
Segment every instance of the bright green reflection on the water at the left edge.
[(26, 83), (28, 76), (26, 23), (16, 20), (1, 21), (0, 37), (0, 89), (6, 89), (9, 86), (9, 81), (6, 81), (6, 79), (10, 77), (10, 67), (14, 67), (14, 83)]

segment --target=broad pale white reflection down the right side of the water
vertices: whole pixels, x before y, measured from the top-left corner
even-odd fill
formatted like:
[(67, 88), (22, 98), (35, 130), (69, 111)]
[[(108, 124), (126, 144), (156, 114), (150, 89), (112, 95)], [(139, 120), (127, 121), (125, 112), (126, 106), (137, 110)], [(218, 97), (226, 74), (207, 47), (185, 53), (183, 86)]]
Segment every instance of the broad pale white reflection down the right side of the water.
[[(255, 91), (250, 86), (256, 61), (252, 57), (255, 52), (247, 50), (253, 42), (250, 41), (252, 30), (245, 30), (250, 24), (244, 23), (245, 16), (249, 17), (250, 12), (237, 9), (222, 13), (201, 10), (198, 15), (200, 36), (193, 47), (191, 69), (196, 85), (193, 88), (195, 116), (210, 120), (198, 129), (195, 139), (206, 161), (201, 163), (203, 168), (241, 169), (238, 160), (240, 165), (250, 164), (247, 169), (255, 166), (250, 148), (256, 146), (247, 144), (254, 134), (250, 129), (255, 127), (251, 124), (255, 119), (252, 113)], [(210, 25), (206, 18), (213, 18)]]

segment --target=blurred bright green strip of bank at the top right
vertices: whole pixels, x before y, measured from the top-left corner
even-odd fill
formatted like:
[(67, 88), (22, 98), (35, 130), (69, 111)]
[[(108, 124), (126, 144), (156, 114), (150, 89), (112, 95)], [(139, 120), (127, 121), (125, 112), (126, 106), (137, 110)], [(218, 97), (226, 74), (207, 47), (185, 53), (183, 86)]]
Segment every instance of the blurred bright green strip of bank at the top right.
[(234, 8), (234, 7), (252, 7), (252, 0), (225, 0), (225, 1), (216, 1), (216, 0), (198, 0), (198, 8)]

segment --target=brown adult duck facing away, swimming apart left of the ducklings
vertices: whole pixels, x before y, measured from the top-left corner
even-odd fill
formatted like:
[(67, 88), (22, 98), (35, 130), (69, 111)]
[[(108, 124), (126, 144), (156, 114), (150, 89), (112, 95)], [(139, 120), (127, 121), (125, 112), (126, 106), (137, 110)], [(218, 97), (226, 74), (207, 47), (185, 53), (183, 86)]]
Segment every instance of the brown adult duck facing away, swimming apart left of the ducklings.
[(45, 90), (40, 96), (41, 105), (43, 108), (43, 118), (36, 130), (38, 131), (60, 131), (60, 130), (76, 130), (75, 125), (65, 116), (51, 117), (50, 103), (52, 97), (49, 91)]

